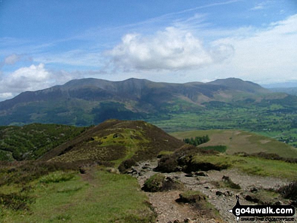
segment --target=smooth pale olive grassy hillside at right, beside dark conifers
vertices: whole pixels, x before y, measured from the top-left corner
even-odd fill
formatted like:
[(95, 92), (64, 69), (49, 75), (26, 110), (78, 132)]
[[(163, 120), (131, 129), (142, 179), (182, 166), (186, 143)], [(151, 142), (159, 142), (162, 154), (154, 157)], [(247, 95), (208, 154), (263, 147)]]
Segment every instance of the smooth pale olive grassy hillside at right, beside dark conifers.
[(172, 136), (178, 139), (205, 135), (209, 136), (210, 141), (199, 145), (199, 147), (224, 145), (227, 146), (227, 154), (265, 152), (276, 153), (281, 157), (297, 158), (296, 148), (252, 132), (242, 130), (192, 130), (172, 133)]

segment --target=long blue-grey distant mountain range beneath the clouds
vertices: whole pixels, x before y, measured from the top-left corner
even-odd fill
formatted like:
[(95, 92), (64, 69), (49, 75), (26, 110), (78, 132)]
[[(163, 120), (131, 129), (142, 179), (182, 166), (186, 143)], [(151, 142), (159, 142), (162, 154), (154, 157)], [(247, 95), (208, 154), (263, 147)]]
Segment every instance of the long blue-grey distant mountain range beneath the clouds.
[(76, 79), (0, 102), (0, 125), (38, 122), (86, 126), (109, 118), (146, 119), (197, 111), (210, 102), (236, 106), (286, 96), (237, 78), (207, 83), (164, 83), (136, 78)]

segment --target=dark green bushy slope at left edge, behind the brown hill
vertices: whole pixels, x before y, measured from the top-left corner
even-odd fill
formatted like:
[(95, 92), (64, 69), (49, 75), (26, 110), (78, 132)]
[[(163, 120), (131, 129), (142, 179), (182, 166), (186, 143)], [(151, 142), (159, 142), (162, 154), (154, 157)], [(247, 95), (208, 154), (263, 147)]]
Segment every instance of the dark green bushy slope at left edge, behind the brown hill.
[(0, 126), (0, 160), (37, 159), (86, 129), (58, 124)]

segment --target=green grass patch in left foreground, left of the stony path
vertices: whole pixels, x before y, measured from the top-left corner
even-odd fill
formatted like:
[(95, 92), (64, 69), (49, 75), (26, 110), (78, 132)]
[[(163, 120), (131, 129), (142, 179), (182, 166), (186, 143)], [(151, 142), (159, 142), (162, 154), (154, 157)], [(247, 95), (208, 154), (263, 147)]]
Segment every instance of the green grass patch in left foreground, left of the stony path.
[[(95, 167), (94, 167), (95, 168)], [(155, 215), (137, 180), (129, 175), (90, 170), (58, 183), (32, 182), (30, 211), (4, 208), (1, 222), (154, 222)], [(48, 175), (49, 176), (49, 175)], [(2, 188), (0, 188), (1, 190)]]

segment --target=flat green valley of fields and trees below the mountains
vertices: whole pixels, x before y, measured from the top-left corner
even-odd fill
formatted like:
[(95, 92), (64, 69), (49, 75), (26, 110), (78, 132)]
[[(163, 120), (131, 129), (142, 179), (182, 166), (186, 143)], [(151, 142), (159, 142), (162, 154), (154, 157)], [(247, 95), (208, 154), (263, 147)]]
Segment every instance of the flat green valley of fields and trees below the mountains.
[[(289, 102), (286, 102), (289, 104)], [(263, 104), (233, 106), (227, 103), (206, 105), (196, 112), (168, 113), (167, 118), (151, 118), (146, 121), (167, 132), (240, 129), (297, 147), (297, 114), (289, 105)]]

